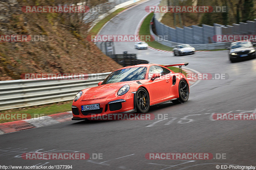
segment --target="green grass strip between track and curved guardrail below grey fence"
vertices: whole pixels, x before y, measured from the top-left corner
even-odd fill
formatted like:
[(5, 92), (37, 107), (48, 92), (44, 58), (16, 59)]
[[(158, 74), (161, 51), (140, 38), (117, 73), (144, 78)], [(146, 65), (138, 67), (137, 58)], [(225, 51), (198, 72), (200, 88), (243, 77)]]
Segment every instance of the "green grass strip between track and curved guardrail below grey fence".
[[(140, 27), (140, 32), (139, 32), (140, 35), (150, 35), (149, 25), (150, 25), (150, 20), (153, 17), (153, 15), (154, 15), (153, 12), (150, 13), (143, 21), (143, 23)], [(172, 49), (173, 49), (172, 47), (165, 46), (156, 41), (148, 41), (147, 43), (150, 47), (153, 47), (156, 49), (161, 49), (161, 50), (165, 50), (165, 51), (172, 51)], [(222, 51), (222, 50), (227, 50), (227, 49), (202, 49), (202, 50), (200, 49), (197, 51)]]

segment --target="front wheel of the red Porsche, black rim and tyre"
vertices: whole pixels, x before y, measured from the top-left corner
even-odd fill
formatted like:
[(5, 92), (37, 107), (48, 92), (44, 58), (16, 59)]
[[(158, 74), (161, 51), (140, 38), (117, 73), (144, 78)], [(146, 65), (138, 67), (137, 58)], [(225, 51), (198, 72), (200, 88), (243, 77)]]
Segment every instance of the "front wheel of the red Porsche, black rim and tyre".
[(136, 92), (136, 96), (135, 96), (135, 104), (136, 104), (136, 110), (139, 113), (147, 113), (149, 110), (149, 95), (148, 92), (140, 87), (137, 92)]

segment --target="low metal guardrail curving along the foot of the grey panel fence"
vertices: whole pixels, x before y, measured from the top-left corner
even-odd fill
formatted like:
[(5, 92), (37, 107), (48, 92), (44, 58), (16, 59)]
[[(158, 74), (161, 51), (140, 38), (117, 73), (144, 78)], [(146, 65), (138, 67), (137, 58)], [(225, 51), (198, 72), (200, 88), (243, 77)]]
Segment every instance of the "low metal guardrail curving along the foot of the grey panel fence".
[[(150, 22), (153, 21), (154, 16), (151, 18)], [(172, 42), (172, 41), (167, 41), (164, 40), (160, 37), (158, 37), (152, 30), (152, 25), (150, 27), (150, 35), (153, 35), (155, 38), (155, 41), (159, 42), (160, 44), (163, 44), (168, 47), (184, 44), (184, 43), (178, 43), (178, 42)], [(249, 41), (252, 42), (252, 44), (255, 46), (256, 45), (256, 40), (255, 39), (249, 39)], [(212, 44), (189, 44), (192, 47), (194, 47), (196, 50), (202, 50), (202, 49), (225, 49), (229, 48), (231, 42), (220, 42), (220, 43), (212, 43)]]

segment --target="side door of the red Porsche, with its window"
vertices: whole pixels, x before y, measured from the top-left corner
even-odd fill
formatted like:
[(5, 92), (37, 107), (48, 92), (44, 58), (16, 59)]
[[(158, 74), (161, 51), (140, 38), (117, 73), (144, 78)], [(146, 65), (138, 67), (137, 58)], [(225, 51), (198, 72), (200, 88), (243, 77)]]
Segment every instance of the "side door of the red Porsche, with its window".
[[(151, 80), (154, 73), (161, 76), (155, 80)], [(172, 81), (170, 80), (170, 71), (160, 66), (151, 66), (148, 72), (148, 82), (150, 88), (150, 101), (164, 99), (168, 96)]]

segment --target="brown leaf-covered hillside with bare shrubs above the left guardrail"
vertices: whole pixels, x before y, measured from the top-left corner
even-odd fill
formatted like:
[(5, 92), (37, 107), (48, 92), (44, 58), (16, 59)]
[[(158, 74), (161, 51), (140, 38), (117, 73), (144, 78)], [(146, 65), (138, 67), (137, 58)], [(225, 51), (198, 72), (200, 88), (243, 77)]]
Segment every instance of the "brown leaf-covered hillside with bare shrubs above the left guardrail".
[[(28, 42), (0, 42), (0, 81), (22, 73), (101, 73), (121, 65), (87, 41), (87, 13), (25, 13), (22, 6), (75, 4), (76, 0), (1, 1), (0, 35), (31, 35)], [(83, 1), (84, 2), (84, 1)], [(105, 1), (92, 0), (88, 5)], [(49, 4), (50, 3), (50, 4)], [(91, 3), (91, 4), (90, 4)], [(116, 11), (117, 12), (117, 11)], [(89, 20), (89, 19), (88, 19)], [(34, 37), (40, 37), (34, 41)], [(100, 65), (100, 67), (99, 67)]]

